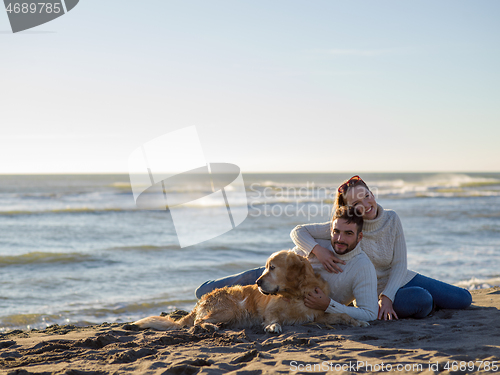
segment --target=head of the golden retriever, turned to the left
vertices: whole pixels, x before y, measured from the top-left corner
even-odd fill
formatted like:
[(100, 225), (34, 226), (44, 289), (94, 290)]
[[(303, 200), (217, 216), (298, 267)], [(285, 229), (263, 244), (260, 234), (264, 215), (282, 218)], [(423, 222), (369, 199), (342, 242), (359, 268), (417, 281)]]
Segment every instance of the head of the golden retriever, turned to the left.
[(263, 294), (300, 294), (300, 285), (311, 275), (314, 271), (306, 258), (282, 250), (269, 257), (257, 285)]

